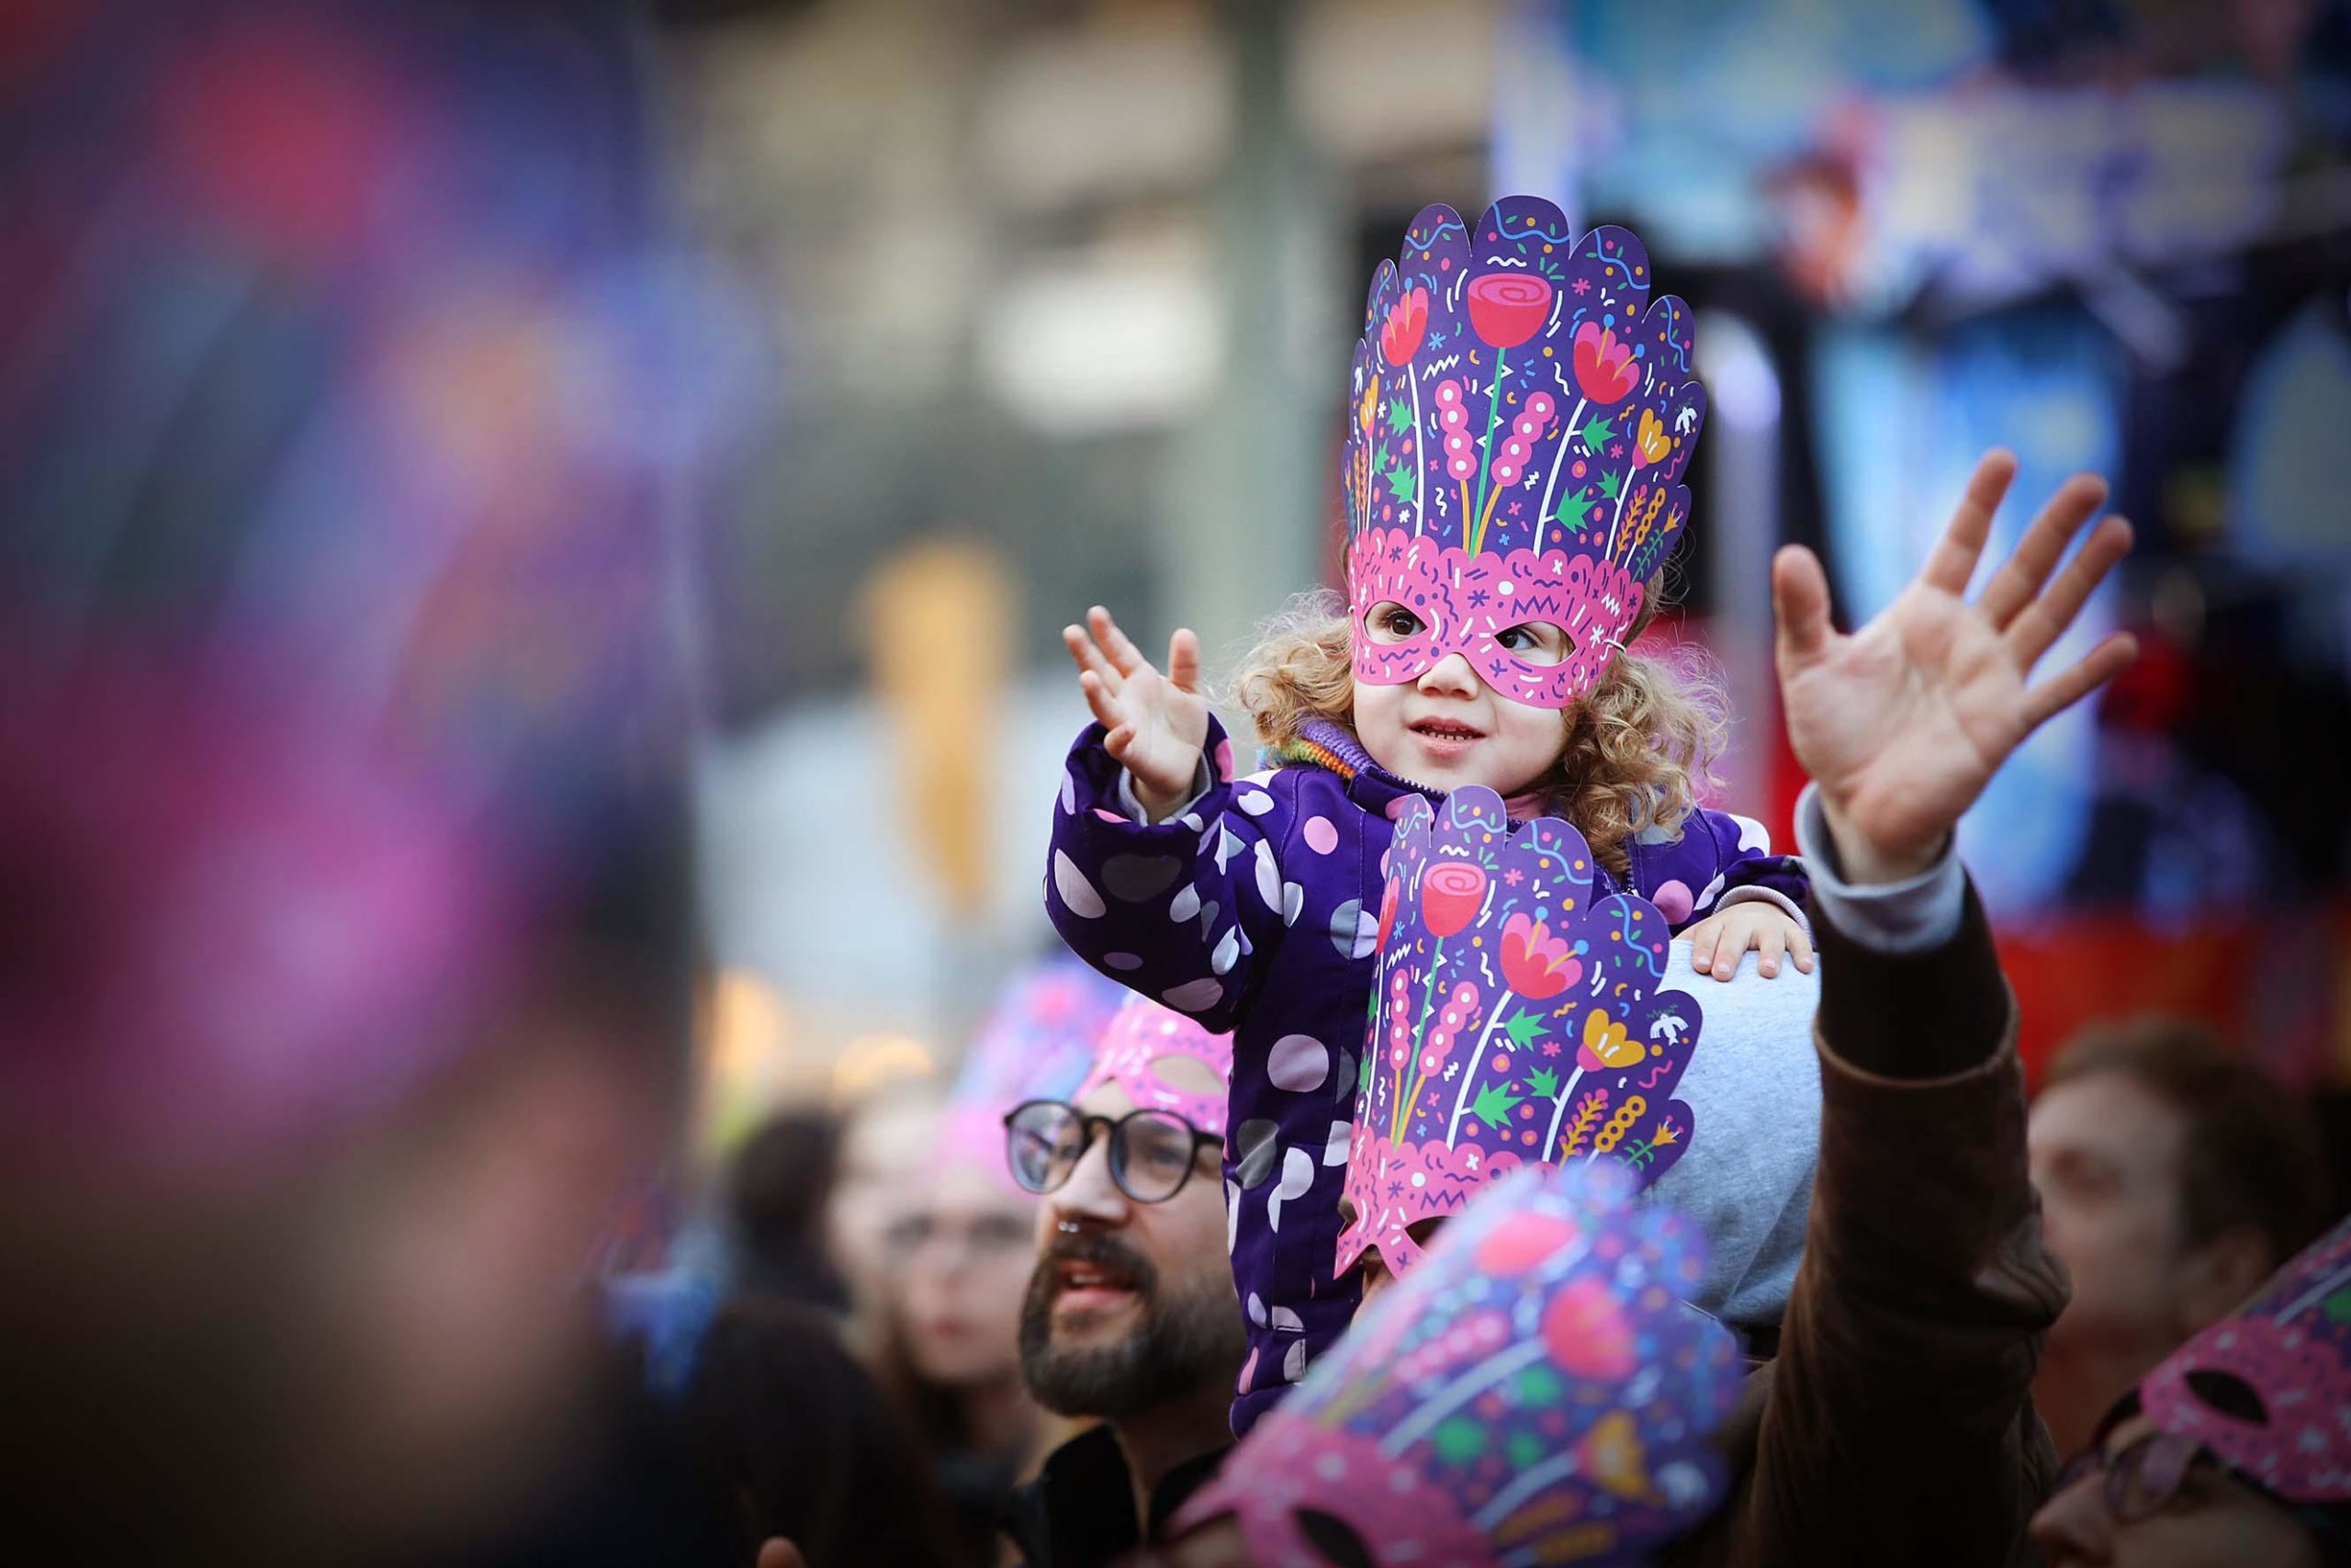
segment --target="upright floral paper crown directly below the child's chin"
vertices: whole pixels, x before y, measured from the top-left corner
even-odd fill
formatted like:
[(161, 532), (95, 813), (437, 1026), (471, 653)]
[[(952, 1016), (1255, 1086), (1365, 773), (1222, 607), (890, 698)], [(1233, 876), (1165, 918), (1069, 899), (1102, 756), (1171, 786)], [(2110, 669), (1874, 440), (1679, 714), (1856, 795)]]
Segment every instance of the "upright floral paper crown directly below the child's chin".
[(1404, 1274), (1408, 1227), (1458, 1213), (1521, 1164), (1627, 1166), (1657, 1180), (1690, 1147), (1674, 1098), (1697, 1001), (1662, 990), (1665, 914), (1592, 896), (1568, 823), (1512, 823), (1502, 797), (1408, 797), (1380, 900), (1380, 978), (1347, 1152), (1345, 1272), (1378, 1246)]

